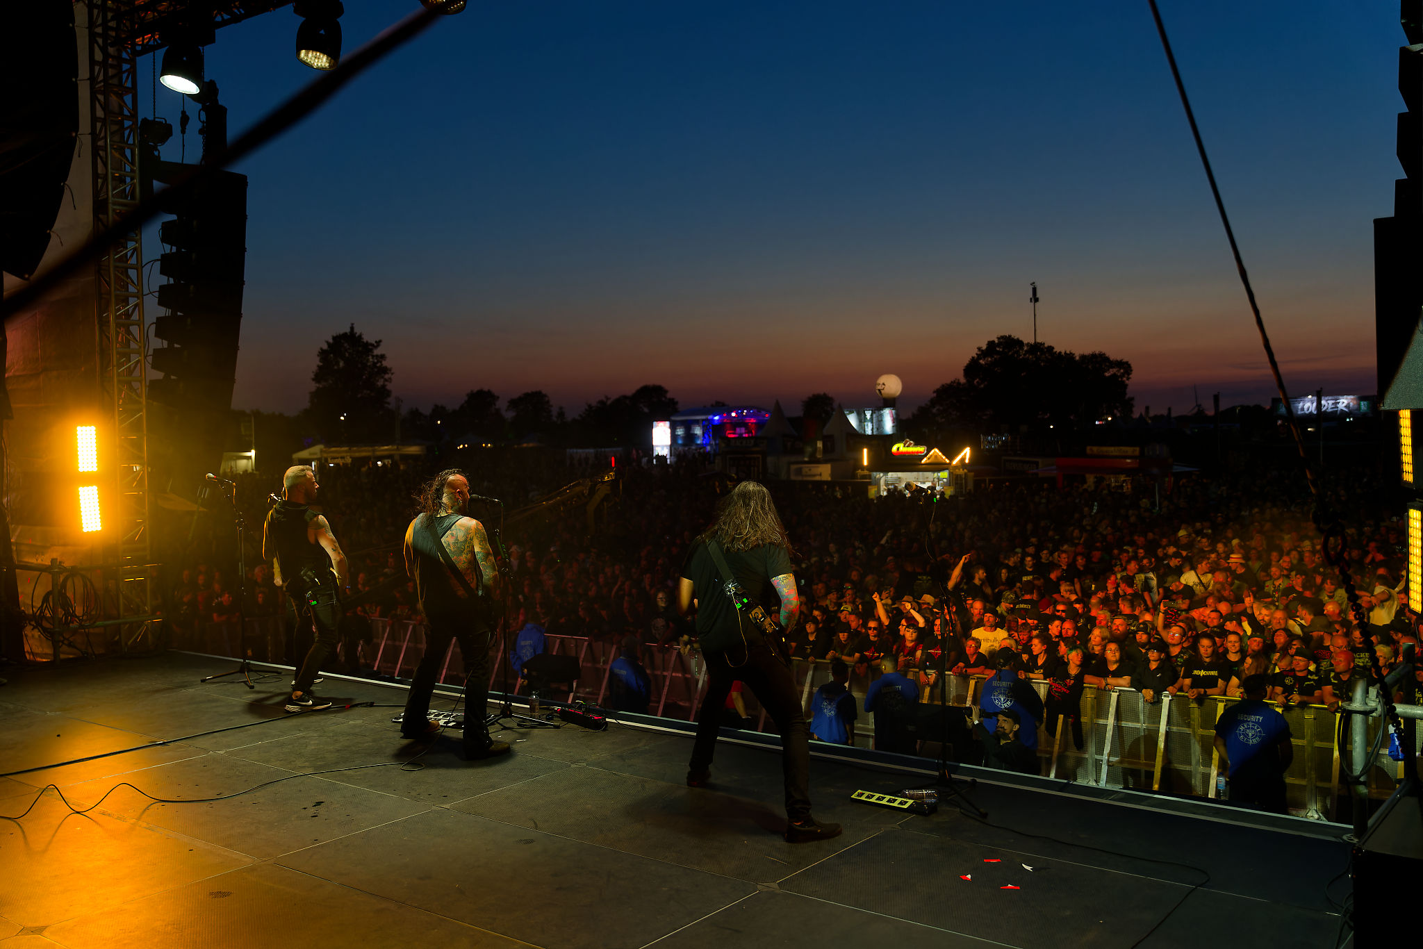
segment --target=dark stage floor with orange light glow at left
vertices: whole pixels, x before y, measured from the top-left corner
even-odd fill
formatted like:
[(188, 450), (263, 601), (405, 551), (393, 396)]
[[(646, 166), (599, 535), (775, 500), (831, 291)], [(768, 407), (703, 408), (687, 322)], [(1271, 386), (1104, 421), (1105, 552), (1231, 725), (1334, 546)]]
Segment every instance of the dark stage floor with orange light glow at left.
[[(441, 736), (406, 771), (420, 746), (390, 723), (398, 709), (285, 716), (289, 673), (256, 691), (198, 683), (226, 667), (169, 653), (7, 672), (0, 773), (263, 724), (0, 778), (0, 814), (48, 783), (88, 807), (120, 781), (196, 798), (386, 767), (212, 804), (120, 788), (85, 815), (50, 791), (24, 820), (0, 821), (0, 949), (1126, 948), (1202, 879), (1146, 858), (1211, 875), (1146, 946), (1328, 948), (1339, 928), (1325, 895), (1348, 857), (1336, 839), (986, 783), (975, 798), (995, 827), (952, 807), (902, 815), (850, 794), (915, 781), (817, 760), (815, 814), (845, 834), (793, 847), (776, 751), (723, 743), (713, 787), (689, 790), (690, 738), (566, 726), (507, 733), (514, 754), (480, 764)], [(406, 694), (336, 679), (320, 691)]]

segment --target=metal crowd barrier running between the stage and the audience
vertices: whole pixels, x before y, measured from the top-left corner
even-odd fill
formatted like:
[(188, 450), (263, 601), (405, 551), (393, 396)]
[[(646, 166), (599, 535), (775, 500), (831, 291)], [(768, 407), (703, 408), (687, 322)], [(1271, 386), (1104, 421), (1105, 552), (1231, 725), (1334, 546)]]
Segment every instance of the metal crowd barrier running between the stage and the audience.
[[(182, 645), (181, 637), (175, 640)], [(270, 659), (280, 662), (285, 654), (280, 617), (248, 619), (245, 635), (239, 635), (235, 620), (226, 623), (201, 623), (194, 630), (186, 646), (199, 652)], [(383, 677), (410, 679), (425, 649), (425, 627), (416, 620), (373, 619), (370, 639), (346, 639), (332, 662), (333, 669), (349, 666), (349, 650), (359, 649), (361, 669), (371, 669)], [(490, 645), (491, 690), (501, 684), (499, 676), (508, 662), (495, 653), (499, 643)], [(545, 635), (545, 653), (573, 656), (578, 659), (579, 677), (572, 690), (545, 696), (554, 701), (588, 701), (603, 704), (609, 699), (609, 679), (618, 646), (608, 640), (589, 636)], [(706, 690), (706, 670), (693, 657), (683, 654), (676, 646), (650, 643), (643, 646), (640, 656), (650, 683), (647, 711), (656, 716), (696, 720)], [(811, 696), (830, 682), (830, 663), (824, 660), (795, 660), (791, 664), (795, 686), (801, 693), (803, 706), (810, 711)], [(859, 717), (855, 721), (851, 743), (874, 747), (874, 716), (865, 713), (865, 691), (878, 677), (874, 669), (857, 669), (850, 679), (850, 690), (855, 696)], [(458, 645), (451, 643), (441, 660), (437, 682), (444, 686), (461, 686), (465, 679), (464, 657)], [(949, 706), (965, 709), (970, 723), (978, 723), (979, 693), (983, 676), (949, 676), (942, 690), (942, 700)], [(527, 694), (528, 686), (509, 673), (514, 691)], [(1046, 696), (1046, 683), (1033, 686)], [(743, 693), (748, 721), (757, 731), (774, 731), (766, 710), (750, 691)], [(921, 701), (938, 704), (941, 689), (935, 686)], [(1077, 784), (1106, 788), (1130, 788), (1148, 792), (1214, 797), (1221, 763), (1214, 747), (1215, 723), (1234, 699), (1208, 697), (1191, 700), (1185, 696), (1163, 694), (1157, 701), (1147, 703), (1140, 691), (1133, 689), (1083, 689), (1079, 709), (1081, 747), (1077, 747), (1074, 730), (1067, 721), (1043, 723), (1039, 728), (1037, 754), (1040, 774)], [(1286, 800), (1294, 814), (1316, 820), (1335, 820), (1343, 792), (1340, 774), (1346, 767), (1340, 748), (1342, 713), (1325, 706), (1302, 706), (1282, 710), (1289, 723), (1295, 746), (1294, 761), (1285, 774)], [(1370, 719), (1369, 737), (1377, 734), (1379, 719)], [(1419, 728), (1419, 748), (1423, 750), (1423, 728)], [(936, 756), (938, 746), (924, 743), (921, 753)], [(1369, 795), (1386, 798), (1402, 780), (1402, 763), (1393, 761), (1385, 748), (1369, 771)]]

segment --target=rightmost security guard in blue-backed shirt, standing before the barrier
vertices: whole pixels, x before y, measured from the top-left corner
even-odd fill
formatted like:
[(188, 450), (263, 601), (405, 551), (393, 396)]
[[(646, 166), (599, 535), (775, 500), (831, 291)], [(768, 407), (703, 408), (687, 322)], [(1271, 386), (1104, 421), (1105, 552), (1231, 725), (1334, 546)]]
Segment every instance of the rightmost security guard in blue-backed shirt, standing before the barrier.
[(1285, 771), (1295, 746), (1285, 716), (1265, 703), (1265, 676), (1247, 676), (1245, 699), (1215, 721), (1215, 751), (1229, 775), (1229, 800), (1285, 812)]

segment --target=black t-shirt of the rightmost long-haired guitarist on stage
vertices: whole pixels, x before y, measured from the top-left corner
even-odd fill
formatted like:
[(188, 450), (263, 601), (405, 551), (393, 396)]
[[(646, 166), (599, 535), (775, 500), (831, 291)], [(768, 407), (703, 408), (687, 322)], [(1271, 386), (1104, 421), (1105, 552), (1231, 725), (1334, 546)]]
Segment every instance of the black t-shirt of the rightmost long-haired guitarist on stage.
[[(723, 551), (731, 576), (741, 585), (747, 596), (766, 608), (774, 619), (780, 610), (781, 598), (771, 578), (791, 572), (791, 558), (785, 548), (763, 544), (750, 551)], [(720, 652), (740, 646), (741, 637), (754, 643), (760, 630), (737, 612), (721, 585), (716, 561), (707, 552), (706, 544), (697, 544), (682, 565), (682, 576), (692, 580), (693, 596), (697, 600), (697, 637), (704, 652)]]

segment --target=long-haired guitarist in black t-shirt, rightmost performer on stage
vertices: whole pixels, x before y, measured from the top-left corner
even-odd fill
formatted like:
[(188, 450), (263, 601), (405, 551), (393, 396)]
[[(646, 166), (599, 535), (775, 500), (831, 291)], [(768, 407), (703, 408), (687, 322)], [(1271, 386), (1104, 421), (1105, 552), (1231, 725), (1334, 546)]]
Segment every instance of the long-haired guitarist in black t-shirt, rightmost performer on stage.
[[(731, 683), (741, 682), (781, 733), (785, 839), (803, 844), (837, 837), (840, 824), (820, 824), (810, 812), (810, 727), (781, 639), (795, 625), (800, 595), (785, 526), (764, 485), (736, 485), (717, 505), (716, 519), (693, 542), (682, 565), (677, 610), (686, 615), (693, 605), (707, 693), (697, 717), (687, 785), (706, 787), (712, 780), (721, 707)], [(778, 625), (771, 615), (778, 616)]]

